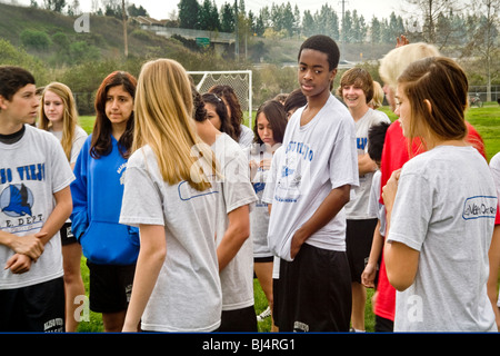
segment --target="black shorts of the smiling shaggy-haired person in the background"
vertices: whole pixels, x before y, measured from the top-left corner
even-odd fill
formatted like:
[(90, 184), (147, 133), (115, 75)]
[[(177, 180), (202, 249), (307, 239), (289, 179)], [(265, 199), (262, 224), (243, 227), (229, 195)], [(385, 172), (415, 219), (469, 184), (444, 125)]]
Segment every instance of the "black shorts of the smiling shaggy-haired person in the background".
[(352, 281), (361, 283), (378, 219), (347, 220), (346, 246)]

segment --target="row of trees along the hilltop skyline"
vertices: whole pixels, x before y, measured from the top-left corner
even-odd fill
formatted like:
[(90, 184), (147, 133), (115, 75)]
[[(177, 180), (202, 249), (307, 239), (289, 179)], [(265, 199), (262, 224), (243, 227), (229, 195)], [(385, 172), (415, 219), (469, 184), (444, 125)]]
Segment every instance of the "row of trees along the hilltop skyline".
[[(449, 6), (438, 7), (440, 1)], [(342, 16), (328, 2), (314, 12), (300, 12), (298, 6), (292, 7), (290, 2), (272, 2), (253, 13), (251, 10), (246, 11), (244, 0), (226, 2), (220, 8), (214, 0), (179, 0), (177, 26), (221, 32), (234, 32), (238, 29), (244, 36), (257, 37), (292, 38), (321, 33), (344, 43), (392, 43), (397, 36), (406, 33), (413, 39), (440, 46), (464, 46), (473, 40), (478, 28), (488, 21), (487, 13), (472, 11), (467, 6), (459, 9), (449, 1), (407, 2), (416, 9), (421, 6), (424, 10), (421, 13), (417, 11), (417, 16), (406, 14), (404, 20), (394, 12), (388, 13), (388, 18), (373, 16), (366, 19), (356, 9), (347, 10)], [(431, 3), (430, 8), (428, 2)]]

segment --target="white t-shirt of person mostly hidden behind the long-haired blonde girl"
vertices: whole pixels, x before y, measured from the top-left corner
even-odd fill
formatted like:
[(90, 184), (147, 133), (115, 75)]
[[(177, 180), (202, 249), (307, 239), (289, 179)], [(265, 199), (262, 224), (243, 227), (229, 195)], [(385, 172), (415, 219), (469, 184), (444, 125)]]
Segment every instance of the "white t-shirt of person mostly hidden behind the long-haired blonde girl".
[[(217, 246), (229, 226), (228, 214), (257, 201), (250, 182), (248, 158), (227, 134), (217, 137), (211, 146), (222, 174), (222, 194), (218, 195)], [(253, 245), (248, 238), (234, 258), (220, 271), (222, 309), (234, 310), (253, 305)]]

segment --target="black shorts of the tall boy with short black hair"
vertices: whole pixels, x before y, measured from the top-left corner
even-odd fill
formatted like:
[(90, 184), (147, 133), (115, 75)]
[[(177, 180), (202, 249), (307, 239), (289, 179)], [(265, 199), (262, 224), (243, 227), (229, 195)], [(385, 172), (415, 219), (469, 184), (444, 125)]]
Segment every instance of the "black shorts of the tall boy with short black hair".
[(293, 261), (280, 260), (278, 289), (280, 332), (349, 332), (352, 293), (344, 251), (302, 245)]

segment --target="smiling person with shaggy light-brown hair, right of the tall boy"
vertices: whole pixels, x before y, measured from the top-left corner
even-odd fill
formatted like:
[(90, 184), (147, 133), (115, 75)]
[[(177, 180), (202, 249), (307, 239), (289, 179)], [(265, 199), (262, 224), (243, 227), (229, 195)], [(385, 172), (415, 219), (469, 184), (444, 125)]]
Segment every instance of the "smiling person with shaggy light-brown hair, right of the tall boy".
[(373, 174), (378, 170), (377, 164), (367, 154), (367, 147), (370, 145), (368, 130), (373, 125), (391, 121), (387, 115), (377, 112), (368, 106), (373, 98), (373, 80), (367, 70), (351, 68), (346, 71), (340, 79), (337, 93), (348, 107), (356, 126), (359, 187), (354, 189), (356, 197), (344, 207), (346, 245), (352, 279), (352, 330), (364, 332), (367, 290), (361, 284), (361, 274), (370, 256), (373, 231), (378, 221), (377, 215), (368, 210), (371, 181)]

